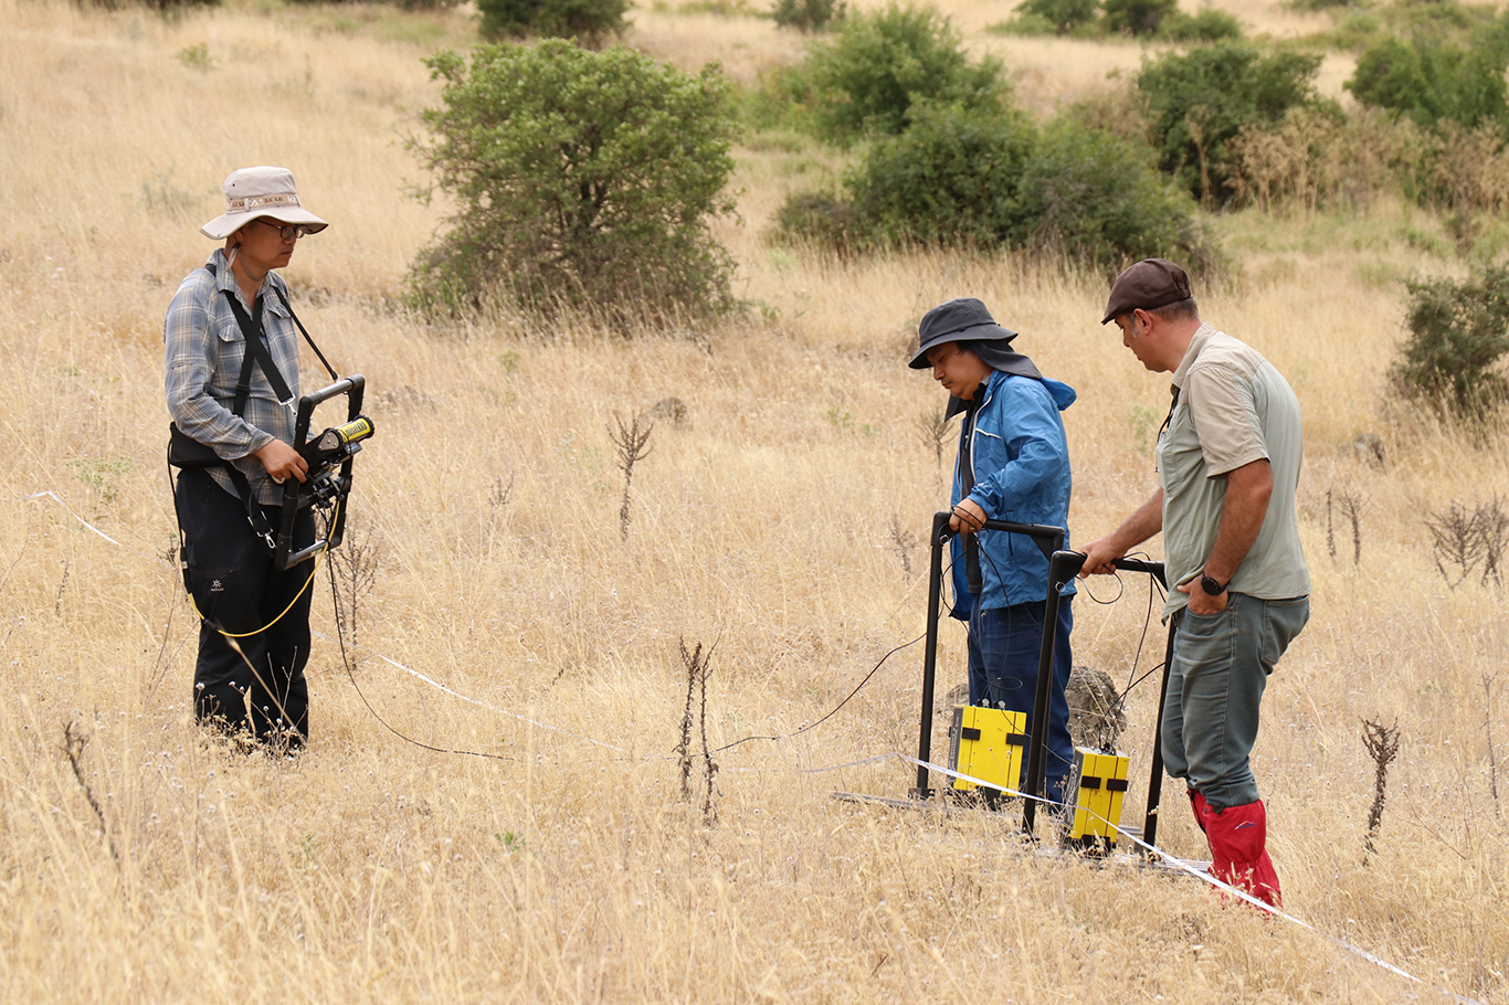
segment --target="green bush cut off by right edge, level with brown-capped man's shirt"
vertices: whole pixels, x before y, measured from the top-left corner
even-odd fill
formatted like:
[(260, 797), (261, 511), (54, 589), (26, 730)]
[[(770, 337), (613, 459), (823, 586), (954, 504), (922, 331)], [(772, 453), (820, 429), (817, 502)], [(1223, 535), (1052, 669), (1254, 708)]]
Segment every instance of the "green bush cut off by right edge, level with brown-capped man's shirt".
[(1406, 287), (1409, 340), (1393, 368), (1394, 386), (1456, 418), (1480, 418), (1509, 400), (1498, 367), (1509, 353), (1509, 269)]

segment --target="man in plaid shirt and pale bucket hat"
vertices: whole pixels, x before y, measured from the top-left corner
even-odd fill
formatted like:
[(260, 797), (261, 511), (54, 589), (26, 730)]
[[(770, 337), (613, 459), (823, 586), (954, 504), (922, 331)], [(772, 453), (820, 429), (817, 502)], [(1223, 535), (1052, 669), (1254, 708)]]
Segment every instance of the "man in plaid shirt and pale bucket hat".
[[(272, 543), (250, 516), (260, 509), (264, 528), (276, 527), (282, 483), (303, 481), (308, 471), (291, 442), (299, 337), (288, 287), (275, 270), (288, 264), (300, 237), (327, 225), (299, 204), (284, 168), (232, 172), (225, 204), (199, 228), (223, 246), (184, 278), (163, 323), (167, 410), (181, 433), (174, 450), (193, 441), (204, 453), (187, 465), (174, 460), (183, 466), (174, 502), (186, 585), (202, 619), (193, 705), (199, 721), (297, 750), (309, 726), (303, 668), (314, 566), (276, 569)], [(249, 338), (263, 340), (266, 352), (249, 347)], [(249, 349), (257, 365), (243, 368)], [(276, 373), (267, 373), (267, 361)], [(305, 509), (294, 543), (312, 540), (314, 516)]]

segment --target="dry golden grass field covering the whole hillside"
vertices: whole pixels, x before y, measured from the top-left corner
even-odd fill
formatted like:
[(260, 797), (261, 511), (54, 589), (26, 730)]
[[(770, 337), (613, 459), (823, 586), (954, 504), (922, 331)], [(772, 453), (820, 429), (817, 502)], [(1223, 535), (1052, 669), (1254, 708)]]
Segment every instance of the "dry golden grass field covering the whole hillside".
[[(1141, 59), (979, 33), (1010, 6), (946, 9), (1022, 69), (1029, 107)], [(1239, 14), (1274, 33), (1299, 18), (1272, 0)], [(1509, 614), (1476, 575), (1449, 589), (1424, 522), (1509, 498), (1504, 429), (1468, 438), (1387, 397), (1400, 281), (1464, 272), (1432, 217), (1236, 214), (1219, 226), (1240, 273), (1201, 287), (1206, 317), (1305, 407), (1314, 617), (1254, 758), (1286, 907), (1311, 931), (1188, 877), (1034, 854), (1014, 815), (831, 800), (905, 795), (908, 765), (854, 762), (916, 750), (920, 646), (821, 726), (717, 753), (711, 815), (700, 761), (682, 797), (681, 640), (712, 647), (721, 747), (815, 723), (922, 635), (920, 540), (951, 454), (922, 433), (940, 392), (904, 365), (927, 308), (982, 297), (1079, 389), (1079, 540), (1147, 496), (1166, 377), (1096, 324), (1102, 276), (777, 249), (771, 213), (825, 166), (741, 148), (742, 223), (723, 237), (762, 309), (690, 338), (430, 327), (395, 306), (444, 216), (406, 196), (423, 180), (403, 140), (438, 94), (420, 60), (474, 41), (465, 14), (0, 0), (0, 999), (1447, 1000), (1437, 985), (1509, 1002)], [(800, 51), (767, 21), (675, 9), (640, 12), (629, 41), (744, 81)], [(309, 750), (237, 755), (190, 721), (160, 326), (211, 249), (196, 228), (220, 180), (257, 163), (290, 166), (332, 220), (287, 278), (326, 353), (367, 376), (377, 426), (340, 552), (377, 569), (355, 682), (392, 729), (484, 756), (377, 721), (323, 569)], [(665, 397), (687, 418), (655, 427), (622, 539), (607, 424)], [(1363, 433), (1385, 468), (1352, 448)], [(1126, 682), (1144, 582), (1076, 616), (1076, 661)], [(1138, 673), (1160, 638), (1154, 622)], [(946, 688), (954, 623), (942, 662)], [(1129, 699), (1130, 807), (1154, 703), (1151, 681)], [(1402, 733), (1366, 863), (1364, 718)], [(1160, 844), (1201, 857), (1166, 795)]]

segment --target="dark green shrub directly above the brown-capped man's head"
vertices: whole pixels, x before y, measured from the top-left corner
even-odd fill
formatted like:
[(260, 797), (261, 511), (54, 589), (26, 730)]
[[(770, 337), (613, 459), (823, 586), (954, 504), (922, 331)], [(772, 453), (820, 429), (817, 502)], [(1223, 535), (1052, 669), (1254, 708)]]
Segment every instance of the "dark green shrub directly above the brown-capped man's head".
[(1049, 124), (1022, 172), (1011, 244), (1108, 272), (1153, 257), (1212, 272), (1215, 244), (1194, 202), (1145, 157), (1070, 119)]

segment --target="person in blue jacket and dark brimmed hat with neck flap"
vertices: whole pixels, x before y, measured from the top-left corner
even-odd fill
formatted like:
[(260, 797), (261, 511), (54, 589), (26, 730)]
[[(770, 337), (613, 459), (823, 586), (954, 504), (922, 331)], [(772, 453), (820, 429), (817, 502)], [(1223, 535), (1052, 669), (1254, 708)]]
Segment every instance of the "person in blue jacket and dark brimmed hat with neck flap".
[[(979, 300), (948, 300), (924, 315), (911, 368), (933, 368), (933, 379), (949, 392), (946, 418), (964, 415), (949, 527), (957, 531), (951, 614), (969, 622), (969, 700), (1026, 712), (1031, 730), (1047, 557), (1031, 537), (982, 528), (987, 519), (1068, 527), (1071, 477), (1059, 412), (1073, 404), (1074, 389), (1013, 352), (1016, 337)], [(1073, 665), (1073, 584), (1061, 590), (1055, 626), (1044, 771), (1052, 800), (1062, 798), (1074, 762), (1064, 697)]]

